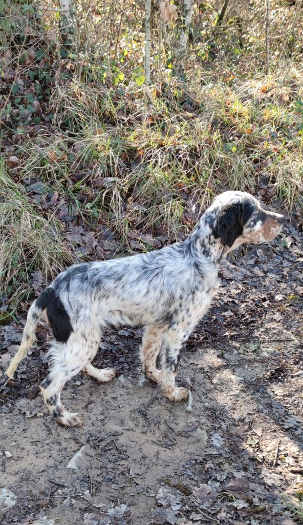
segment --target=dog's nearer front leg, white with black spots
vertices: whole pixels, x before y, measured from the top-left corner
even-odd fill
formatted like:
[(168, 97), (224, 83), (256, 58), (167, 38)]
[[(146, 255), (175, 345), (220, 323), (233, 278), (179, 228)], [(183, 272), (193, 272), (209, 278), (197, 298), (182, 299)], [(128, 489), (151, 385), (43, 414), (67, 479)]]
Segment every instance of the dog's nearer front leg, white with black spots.
[(176, 387), (175, 380), (182, 352), (192, 327), (180, 329), (177, 323), (173, 324), (164, 334), (164, 347), (162, 352), (161, 389), (171, 401), (182, 401), (188, 396), (186, 388)]

